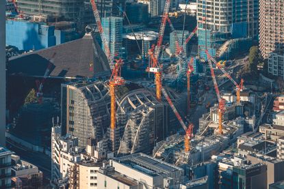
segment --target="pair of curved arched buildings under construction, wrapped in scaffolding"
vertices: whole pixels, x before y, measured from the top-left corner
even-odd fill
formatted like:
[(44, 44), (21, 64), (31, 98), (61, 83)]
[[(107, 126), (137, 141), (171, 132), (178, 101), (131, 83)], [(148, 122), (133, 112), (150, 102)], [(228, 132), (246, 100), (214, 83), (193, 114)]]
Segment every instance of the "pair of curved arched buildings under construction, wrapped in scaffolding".
[[(185, 108), (183, 98), (169, 91), (177, 108)], [(81, 81), (62, 85), (62, 133), (79, 138), (113, 141), (109, 149), (118, 154), (149, 154), (155, 141), (177, 130), (175, 114), (165, 101), (158, 102), (152, 89), (142, 84), (125, 83), (116, 87), (116, 127), (109, 128), (109, 85), (104, 81)], [(112, 133), (113, 132), (113, 133)]]

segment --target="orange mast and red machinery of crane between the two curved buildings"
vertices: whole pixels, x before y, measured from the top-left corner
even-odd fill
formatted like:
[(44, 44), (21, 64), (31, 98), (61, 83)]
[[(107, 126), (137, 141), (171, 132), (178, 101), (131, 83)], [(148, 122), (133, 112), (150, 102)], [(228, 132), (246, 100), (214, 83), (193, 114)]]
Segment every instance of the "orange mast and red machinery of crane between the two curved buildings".
[[(116, 86), (125, 84), (121, 75), (122, 59), (116, 59), (112, 76), (109, 78), (109, 94), (110, 94), (110, 128), (112, 142), (114, 143), (114, 129), (116, 128)], [(114, 145), (113, 145), (114, 147)]]

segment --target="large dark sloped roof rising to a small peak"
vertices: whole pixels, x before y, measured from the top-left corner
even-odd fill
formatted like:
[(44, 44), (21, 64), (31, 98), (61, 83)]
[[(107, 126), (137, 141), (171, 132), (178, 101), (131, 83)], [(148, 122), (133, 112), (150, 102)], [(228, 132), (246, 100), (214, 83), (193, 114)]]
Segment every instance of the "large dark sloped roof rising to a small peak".
[[(91, 35), (50, 48), (12, 57), (8, 74), (43, 76), (49, 62), (50, 76), (92, 77), (110, 74), (107, 57)], [(90, 66), (94, 66), (93, 70)]]

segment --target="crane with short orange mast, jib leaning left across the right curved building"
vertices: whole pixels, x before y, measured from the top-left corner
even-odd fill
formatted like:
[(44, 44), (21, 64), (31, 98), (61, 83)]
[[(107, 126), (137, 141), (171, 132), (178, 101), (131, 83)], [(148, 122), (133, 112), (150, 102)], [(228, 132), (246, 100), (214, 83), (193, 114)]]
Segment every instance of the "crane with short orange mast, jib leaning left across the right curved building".
[(181, 123), (181, 126), (183, 127), (183, 130), (185, 130), (185, 137), (184, 137), (184, 149), (185, 151), (190, 151), (190, 140), (193, 137), (193, 124), (190, 123), (188, 125), (188, 128), (185, 126), (185, 123), (183, 122), (183, 119), (181, 118), (181, 115), (179, 115), (179, 112), (177, 111), (177, 108), (175, 108), (175, 105), (172, 103), (172, 100), (170, 100), (170, 97), (168, 96), (168, 93), (164, 88), (162, 88), (162, 93), (166, 97), (166, 100), (168, 101), (168, 104), (170, 104), (170, 108), (172, 108), (172, 111), (177, 116), (177, 119), (179, 120), (179, 123)]

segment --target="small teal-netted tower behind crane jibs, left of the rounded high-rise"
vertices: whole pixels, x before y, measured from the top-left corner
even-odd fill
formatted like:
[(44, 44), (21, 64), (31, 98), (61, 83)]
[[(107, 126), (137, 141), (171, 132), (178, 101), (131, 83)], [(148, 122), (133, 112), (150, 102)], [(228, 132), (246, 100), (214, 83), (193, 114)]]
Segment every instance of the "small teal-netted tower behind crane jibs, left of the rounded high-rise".
[[(177, 41), (179, 42), (179, 46), (181, 46), (181, 44), (185, 43), (185, 40), (186, 38), (188, 38), (188, 35), (190, 35), (189, 31), (184, 31), (184, 34), (182, 30), (176, 30), (176, 31), (171, 32), (170, 33), (170, 53), (175, 55), (177, 53)], [(183, 38), (183, 42), (181, 41), (182, 38)], [(188, 56), (188, 53), (189, 53), (188, 46), (189, 44), (186, 44), (185, 49), (183, 49), (186, 56)]]

